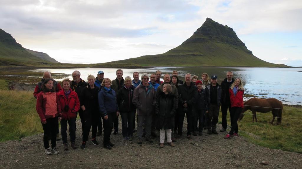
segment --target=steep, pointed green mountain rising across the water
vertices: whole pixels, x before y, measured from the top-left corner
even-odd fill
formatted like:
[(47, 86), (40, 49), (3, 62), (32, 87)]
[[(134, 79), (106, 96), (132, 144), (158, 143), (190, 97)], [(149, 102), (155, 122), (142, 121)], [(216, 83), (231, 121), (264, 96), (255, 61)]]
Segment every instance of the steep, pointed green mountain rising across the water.
[(141, 66), (252, 66), (288, 67), (255, 57), (232, 28), (207, 18), (194, 34), (178, 47), (163, 54), (146, 55), (109, 63)]

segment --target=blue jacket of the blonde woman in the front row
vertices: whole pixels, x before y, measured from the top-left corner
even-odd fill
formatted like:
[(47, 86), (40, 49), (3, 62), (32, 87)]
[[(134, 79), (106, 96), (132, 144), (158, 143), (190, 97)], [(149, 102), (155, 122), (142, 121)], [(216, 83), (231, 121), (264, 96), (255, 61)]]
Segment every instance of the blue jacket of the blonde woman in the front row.
[(104, 88), (102, 88), (98, 92), (98, 109), (103, 116), (106, 116), (107, 113), (118, 111), (116, 94), (113, 89), (106, 91)]

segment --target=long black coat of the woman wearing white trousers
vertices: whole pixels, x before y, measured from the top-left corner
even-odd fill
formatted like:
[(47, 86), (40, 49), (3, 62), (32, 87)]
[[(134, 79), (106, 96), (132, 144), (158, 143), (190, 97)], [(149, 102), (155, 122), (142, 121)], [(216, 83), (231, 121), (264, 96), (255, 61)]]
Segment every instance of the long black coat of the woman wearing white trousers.
[(174, 128), (174, 114), (176, 111), (177, 100), (173, 94), (159, 93), (156, 100), (156, 127), (171, 129)]

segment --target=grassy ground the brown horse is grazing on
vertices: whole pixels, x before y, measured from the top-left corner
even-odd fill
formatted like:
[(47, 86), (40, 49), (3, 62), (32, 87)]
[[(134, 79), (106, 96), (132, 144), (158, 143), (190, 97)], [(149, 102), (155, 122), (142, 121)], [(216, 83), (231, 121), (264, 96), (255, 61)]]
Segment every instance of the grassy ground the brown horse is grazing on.
[[(276, 125), (276, 119), (273, 125), (269, 123), (272, 120), (271, 112), (257, 112), (258, 122), (255, 123), (252, 122), (251, 114), (251, 111), (246, 111), (244, 118), (238, 122), (239, 135), (248, 138), (256, 145), (302, 153), (302, 109), (284, 106), (281, 125)], [(228, 112), (227, 119), (230, 126), (229, 117)]]

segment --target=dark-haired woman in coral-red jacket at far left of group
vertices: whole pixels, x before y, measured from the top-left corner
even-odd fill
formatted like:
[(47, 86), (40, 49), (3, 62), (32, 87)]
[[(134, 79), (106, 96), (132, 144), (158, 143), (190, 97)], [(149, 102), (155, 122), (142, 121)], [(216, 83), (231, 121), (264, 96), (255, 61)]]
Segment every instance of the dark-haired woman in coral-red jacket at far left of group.
[[(44, 80), (42, 91), (37, 95), (36, 110), (44, 131), (43, 142), (46, 155), (59, 154), (56, 150), (56, 129), (57, 121), (61, 120), (61, 107), (56, 89), (53, 86), (53, 79), (47, 78)], [(51, 150), (48, 142), (49, 134), (51, 134)]]

